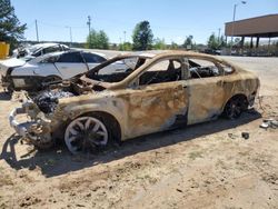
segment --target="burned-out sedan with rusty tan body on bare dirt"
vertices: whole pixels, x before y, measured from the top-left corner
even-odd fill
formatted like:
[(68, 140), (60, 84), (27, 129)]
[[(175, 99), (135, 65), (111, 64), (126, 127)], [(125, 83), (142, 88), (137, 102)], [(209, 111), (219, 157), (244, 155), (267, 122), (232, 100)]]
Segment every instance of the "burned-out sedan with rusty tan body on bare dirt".
[[(107, 70), (115, 62), (129, 68)], [(259, 79), (222, 59), (193, 52), (125, 54), (28, 98), (9, 117), (39, 148), (64, 140), (72, 153), (186, 127), (254, 104)], [(30, 121), (19, 123), (17, 115)]]

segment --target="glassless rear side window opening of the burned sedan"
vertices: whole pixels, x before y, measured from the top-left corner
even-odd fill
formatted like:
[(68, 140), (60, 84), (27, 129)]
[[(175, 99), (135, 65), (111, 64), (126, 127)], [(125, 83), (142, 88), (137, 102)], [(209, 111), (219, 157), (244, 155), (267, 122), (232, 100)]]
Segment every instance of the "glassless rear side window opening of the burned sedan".
[(200, 79), (221, 76), (219, 68), (211, 61), (189, 59), (189, 79)]

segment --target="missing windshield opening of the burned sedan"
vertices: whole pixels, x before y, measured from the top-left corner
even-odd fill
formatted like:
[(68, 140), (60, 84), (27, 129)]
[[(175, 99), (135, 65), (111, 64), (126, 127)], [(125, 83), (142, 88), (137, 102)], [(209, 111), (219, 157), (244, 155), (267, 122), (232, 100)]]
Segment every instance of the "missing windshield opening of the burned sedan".
[(109, 60), (90, 70), (87, 77), (103, 82), (119, 82), (141, 67), (147, 59), (146, 57), (135, 56)]

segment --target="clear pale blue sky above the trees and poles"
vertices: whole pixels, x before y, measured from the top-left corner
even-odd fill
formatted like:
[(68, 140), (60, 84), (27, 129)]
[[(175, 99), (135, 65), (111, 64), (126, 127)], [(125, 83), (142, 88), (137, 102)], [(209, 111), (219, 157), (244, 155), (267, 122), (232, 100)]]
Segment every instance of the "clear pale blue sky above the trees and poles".
[[(27, 40), (36, 40), (34, 20), (39, 38), (44, 41), (83, 42), (88, 36), (87, 17), (92, 28), (105, 30), (110, 42), (131, 41), (135, 24), (150, 22), (155, 37), (167, 43), (182, 43), (189, 34), (197, 43), (206, 43), (211, 32), (224, 33), (225, 22), (231, 21), (234, 4), (236, 19), (278, 13), (278, 0), (11, 0), (16, 14), (27, 23)], [(278, 23), (278, 22), (277, 22)]]

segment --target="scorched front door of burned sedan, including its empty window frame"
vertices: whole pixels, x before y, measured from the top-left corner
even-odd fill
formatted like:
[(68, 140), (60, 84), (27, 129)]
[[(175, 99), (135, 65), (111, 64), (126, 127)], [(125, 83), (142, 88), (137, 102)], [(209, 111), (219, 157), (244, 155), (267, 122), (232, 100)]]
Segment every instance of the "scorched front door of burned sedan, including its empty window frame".
[(157, 62), (140, 76), (138, 87), (128, 91), (129, 137), (187, 123), (188, 89), (182, 68), (179, 60)]

